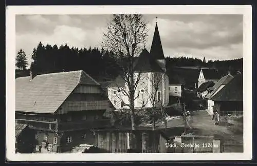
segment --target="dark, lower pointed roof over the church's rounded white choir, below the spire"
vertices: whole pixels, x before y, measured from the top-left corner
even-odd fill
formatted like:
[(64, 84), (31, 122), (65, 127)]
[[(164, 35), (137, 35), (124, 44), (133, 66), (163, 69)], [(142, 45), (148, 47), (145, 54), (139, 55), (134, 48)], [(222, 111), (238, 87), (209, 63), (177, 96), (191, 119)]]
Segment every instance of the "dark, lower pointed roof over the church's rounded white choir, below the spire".
[(140, 53), (137, 64), (134, 67), (136, 72), (164, 72), (156, 60), (145, 48)]

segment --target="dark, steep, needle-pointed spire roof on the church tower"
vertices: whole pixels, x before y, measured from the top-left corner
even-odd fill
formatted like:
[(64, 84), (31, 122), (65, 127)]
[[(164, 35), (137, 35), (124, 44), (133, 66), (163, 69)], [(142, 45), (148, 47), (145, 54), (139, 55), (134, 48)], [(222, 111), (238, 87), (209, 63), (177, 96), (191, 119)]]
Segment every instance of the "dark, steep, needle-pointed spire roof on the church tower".
[(152, 54), (155, 59), (164, 59), (164, 54), (161, 46), (160, 34), (159, 34), (157, 23), (154, 30), (154, 37), (153, 37), (150, 54)]

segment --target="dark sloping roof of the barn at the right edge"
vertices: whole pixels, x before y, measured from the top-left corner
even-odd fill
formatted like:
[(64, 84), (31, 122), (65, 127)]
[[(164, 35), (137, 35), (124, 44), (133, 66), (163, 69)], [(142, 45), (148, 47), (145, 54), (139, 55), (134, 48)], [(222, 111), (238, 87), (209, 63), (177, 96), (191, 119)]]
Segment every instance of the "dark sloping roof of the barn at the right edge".
[(243, 101), (243, 74), (237, 74), (220, 91), (211, 97), (213, 101)]

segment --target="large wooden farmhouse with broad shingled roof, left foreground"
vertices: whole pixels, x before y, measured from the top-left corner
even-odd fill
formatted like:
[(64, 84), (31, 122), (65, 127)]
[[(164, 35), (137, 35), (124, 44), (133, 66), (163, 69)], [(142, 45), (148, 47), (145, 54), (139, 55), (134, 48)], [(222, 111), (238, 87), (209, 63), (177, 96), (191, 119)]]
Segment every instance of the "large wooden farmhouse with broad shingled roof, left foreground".
[[(105, 128), (111, 103), (84, 71), (16, 78), (15, 120), (34, 131), (37, 146), (65, 152), (94, 143), (92, 128)], [(48, 146), (47, 146), (48, 145)]]

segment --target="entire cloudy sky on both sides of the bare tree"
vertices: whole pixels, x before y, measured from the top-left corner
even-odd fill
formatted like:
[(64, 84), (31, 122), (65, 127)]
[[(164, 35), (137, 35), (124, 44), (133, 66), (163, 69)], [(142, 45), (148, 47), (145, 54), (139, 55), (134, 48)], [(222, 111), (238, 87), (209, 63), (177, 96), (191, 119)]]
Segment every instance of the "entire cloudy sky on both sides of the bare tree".
[[(243, 57), (243, 15), (144, 15), (150, 51), (158, 22), (165, 56), (206, 60)], [(101, 47), (102, 34), (112, 15), (16, 15), (16, 52), (31, 54), (39, 41), (44, 45), (67, 43), (78, 48)]]

